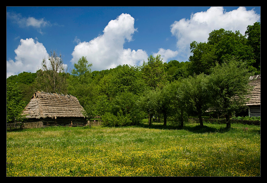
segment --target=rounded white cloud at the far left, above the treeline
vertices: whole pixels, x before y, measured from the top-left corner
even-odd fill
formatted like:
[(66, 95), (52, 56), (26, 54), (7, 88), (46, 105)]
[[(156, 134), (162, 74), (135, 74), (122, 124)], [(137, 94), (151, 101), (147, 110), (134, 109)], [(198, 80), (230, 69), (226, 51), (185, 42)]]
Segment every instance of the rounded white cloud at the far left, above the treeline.
[(15, 60), (7, 60), (7, 78), (23, 71), (35, 73), (41, 68), (42, 59), (48, 58), (46, 48), (33, 38), (21, 39), (15, 53)]

